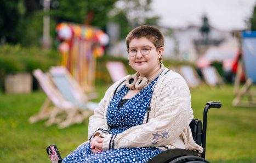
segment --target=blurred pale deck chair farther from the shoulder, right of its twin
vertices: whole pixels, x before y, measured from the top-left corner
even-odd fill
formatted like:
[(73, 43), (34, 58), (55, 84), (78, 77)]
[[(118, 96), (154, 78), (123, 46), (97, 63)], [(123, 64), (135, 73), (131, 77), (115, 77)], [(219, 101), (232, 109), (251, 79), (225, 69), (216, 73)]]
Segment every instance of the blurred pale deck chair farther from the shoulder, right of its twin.
[(218, 71), (213, 66), (202, 68), (201, 71), (204, 80), (211, 88), (220, 84), (224, 84)]

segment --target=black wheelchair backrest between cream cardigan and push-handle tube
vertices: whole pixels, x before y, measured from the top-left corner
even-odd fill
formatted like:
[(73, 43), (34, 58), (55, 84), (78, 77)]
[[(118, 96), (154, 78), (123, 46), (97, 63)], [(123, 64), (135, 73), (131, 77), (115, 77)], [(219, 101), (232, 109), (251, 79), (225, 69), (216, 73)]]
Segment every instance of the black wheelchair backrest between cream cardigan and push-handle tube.
[(192, 131), (192, 136), (194, 141), (201, 146), (202, 144), (202, 122), (198, 119), (193, 119), (190, 124), (190, 129)]

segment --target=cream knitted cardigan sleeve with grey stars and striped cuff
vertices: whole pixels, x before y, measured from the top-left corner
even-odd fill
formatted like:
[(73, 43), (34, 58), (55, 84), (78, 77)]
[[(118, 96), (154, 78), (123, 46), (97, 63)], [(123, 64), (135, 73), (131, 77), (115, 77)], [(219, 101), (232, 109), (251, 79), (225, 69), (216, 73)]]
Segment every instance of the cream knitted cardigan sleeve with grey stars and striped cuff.
[(105, 134), (103, 150), (172, 144), (193, 116), (190, 92), (184, 82), (181, 77), (162, 82), (161, 87), (157, 88), (153, 118), (148, 123), (133, 126), (121, 134)]

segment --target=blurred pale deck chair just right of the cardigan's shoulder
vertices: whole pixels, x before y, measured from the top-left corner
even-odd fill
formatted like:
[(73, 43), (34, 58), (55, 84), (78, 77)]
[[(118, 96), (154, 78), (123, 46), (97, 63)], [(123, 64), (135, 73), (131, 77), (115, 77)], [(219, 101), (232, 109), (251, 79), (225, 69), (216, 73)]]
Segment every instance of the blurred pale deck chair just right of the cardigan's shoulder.
[(190, 65), (183, 65), (179, 67), (179, 72), (180, 72), (180, 75), (184, 77), (189, 88), (194, 88), (199, 86), (200, 77), (198, 77), (198, 74)]

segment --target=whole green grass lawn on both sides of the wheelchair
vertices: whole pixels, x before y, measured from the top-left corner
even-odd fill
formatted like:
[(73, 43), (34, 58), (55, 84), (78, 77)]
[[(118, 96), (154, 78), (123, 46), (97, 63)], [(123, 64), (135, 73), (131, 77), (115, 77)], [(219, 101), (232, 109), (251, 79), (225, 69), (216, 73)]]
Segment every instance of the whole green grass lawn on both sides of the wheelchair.
[[(99, 102), (107, 87), (99, 86)], [(208, 101), (220, 101), (221, 108), (208, 112), (206, 159), (211, 162), (256, 162), (256, 108), (232, 107), (233, 87), (191, 89), (195, 119), (203, 118)], [(44, 122), (29, 124), (46, 95), (33, 92), (22, 95), (0, 93), (0, 162), (50, 162), (46, 147), (55, 143), (62, 158), (87, 141), (88, 119), (85, 123), (58, 129)]]

